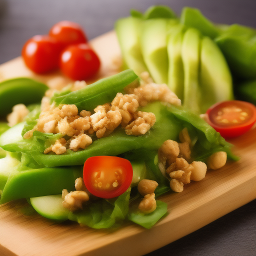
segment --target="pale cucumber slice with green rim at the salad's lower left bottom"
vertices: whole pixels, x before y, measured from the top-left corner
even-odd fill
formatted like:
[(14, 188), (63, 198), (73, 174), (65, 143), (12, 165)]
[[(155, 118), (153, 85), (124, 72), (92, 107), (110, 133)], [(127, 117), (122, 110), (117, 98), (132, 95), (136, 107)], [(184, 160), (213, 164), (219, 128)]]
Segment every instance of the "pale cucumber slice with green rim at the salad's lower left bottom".
[(69, 210), (62, 206), (62, 201), (61, 194), (30, 198), (31, 205), (40, 215), (58, 221), (68, 218)]

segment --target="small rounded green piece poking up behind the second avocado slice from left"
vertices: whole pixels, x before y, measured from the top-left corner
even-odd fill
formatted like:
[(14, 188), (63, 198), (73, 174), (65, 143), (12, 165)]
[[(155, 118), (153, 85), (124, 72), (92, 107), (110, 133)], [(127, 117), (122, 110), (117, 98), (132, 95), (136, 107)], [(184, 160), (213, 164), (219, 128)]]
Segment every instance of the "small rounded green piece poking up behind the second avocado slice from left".
[(144, 13), (144, 19), (149, 18), (176, 18), (176, 14), (166, 5), (152, 5)]

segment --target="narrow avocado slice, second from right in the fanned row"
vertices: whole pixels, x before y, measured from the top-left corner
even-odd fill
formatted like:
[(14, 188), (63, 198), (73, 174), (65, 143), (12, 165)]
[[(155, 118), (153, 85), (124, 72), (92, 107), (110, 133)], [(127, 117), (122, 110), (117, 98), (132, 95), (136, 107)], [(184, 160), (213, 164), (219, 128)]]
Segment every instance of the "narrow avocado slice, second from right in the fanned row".
[(183, 36), (181, 56), (184, 68), (184, 98), (183, 105), (191, 111), (200, 112), (200, 90), (198, 82), (200, 60), (200, 33), (189, 28)]

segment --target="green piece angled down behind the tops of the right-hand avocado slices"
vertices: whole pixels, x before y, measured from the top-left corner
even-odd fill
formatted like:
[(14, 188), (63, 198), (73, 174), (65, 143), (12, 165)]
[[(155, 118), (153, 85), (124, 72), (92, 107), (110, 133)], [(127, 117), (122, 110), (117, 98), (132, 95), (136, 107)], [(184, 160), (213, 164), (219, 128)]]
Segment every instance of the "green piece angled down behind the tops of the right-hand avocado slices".
[(219, 35), (220, 29), (202, 15), (196, 8), (184, 7), (180, 16), (180, 22), (187, 27), (198, 29), (203, 35), (214, 39)]

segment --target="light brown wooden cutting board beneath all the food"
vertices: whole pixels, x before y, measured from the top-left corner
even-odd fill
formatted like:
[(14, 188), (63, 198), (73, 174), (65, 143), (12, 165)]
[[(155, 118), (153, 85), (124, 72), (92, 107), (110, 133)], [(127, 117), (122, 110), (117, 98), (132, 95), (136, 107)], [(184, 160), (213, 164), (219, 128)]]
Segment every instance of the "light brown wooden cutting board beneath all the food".
[[(102, 66), (99, 77), (118, 72), (120, 50), (114, 32), (91, 41)], [(0, 65), (0, 80), (27, 76), (61, 87), (70, 82), (60, 73), (35, 75), (20, 57)], [(56, 224), (39, 215), (24, 216), (15, 202), (0, 206), (0, 255), (18, 256), (130, 256), (143, 255), (166, 245), (256, 198), (256, 128), (229, 140), (241, 158), (209, 170), (181, 193), (160, 197), (168, 215), (151, 229), (125, 224), (117, 230), (94, 230), (75, 222)]]

